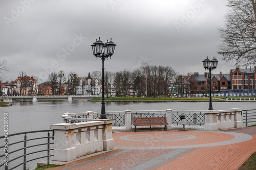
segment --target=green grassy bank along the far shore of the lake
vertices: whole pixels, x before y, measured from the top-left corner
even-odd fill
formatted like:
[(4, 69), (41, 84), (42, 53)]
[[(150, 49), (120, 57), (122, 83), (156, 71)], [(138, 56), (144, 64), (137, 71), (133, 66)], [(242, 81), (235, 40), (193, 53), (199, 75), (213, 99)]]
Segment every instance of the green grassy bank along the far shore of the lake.
[[(101, 98), (95, 98), (91, 101), (101, 101)], [(105, 101), (209, 101), (209, 98), (105, 98)], [(212, 101), (221, 101), (212, 99)]]

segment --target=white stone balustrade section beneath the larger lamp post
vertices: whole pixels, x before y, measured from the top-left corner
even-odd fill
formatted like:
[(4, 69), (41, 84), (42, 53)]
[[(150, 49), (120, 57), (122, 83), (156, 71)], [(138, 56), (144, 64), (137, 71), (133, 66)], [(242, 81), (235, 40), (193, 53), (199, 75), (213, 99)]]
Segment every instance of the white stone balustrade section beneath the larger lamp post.
[(54, 161), (71, 161), (80, 156), (114, 149), (112, 119), (77, 124), (54, 124)]

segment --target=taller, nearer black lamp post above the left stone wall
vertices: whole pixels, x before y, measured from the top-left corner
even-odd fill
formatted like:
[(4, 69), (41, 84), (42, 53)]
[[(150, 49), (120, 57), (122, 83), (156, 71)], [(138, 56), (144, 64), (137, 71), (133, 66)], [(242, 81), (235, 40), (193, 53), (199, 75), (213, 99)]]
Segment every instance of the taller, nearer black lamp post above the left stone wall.
[[(92, 50), (93, 50), (93, 55), (98, 58), (101, 58), (102, 60), (102, 102), (101, 102), (101, 114), (100, 114), (100, 119), (105, 119), (106, 118), (106, 111), (105, 111), (105, 98), (104, 98), (104, 89), (105, 89), (105, 84), (104, 84), (104, 61), (105, 59), (108, 59), (108, 57), (111, 58), (111, 56), (114, 54), (115, 51), (115, 46), (116, 44), (112, 42), (112, 38), (110, 39), (110, 42), (108, 40), (104, 44), (100, 38), (99, 40), (96, 41), (91, 45)], [(104, 47), (104, 52), (102, 52)]]

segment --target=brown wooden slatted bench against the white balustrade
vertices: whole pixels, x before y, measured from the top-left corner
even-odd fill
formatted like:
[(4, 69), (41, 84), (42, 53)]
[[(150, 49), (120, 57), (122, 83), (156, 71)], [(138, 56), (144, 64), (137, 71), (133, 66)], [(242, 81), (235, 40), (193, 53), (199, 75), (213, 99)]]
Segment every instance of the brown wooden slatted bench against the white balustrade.
[(137, 126), (154, 126), (154, 125), (164, 125), (164, 130), (167, 131), (166, 125), (167, 123), (166, 117), (134, 117), (133, 125), (135, 126), (135, 132), (137, 132)]

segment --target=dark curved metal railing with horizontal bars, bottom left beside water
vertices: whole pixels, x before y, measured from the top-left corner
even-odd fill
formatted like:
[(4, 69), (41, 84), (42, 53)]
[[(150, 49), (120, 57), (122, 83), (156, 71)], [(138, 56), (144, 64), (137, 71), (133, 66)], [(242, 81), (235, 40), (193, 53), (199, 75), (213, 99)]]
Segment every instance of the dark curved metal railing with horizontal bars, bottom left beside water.
[[(36, 138), (27, 139), (27, 134), (40, 133), (40, 132), (48, 132), (47, 133), (47, 137), (36, 137)], [(52, 132), (51, 136), (50, 136), (50, 132)], [(14, 141), (13, 143), (8, 143), (9, 137), (17, 136), (17, 135), (24, 135), (24, 140)], [(38, 140), (46, 139), (46, 138), (47, 138), (47, 142), (43, 142), (43, 143), (40, 143), (40, 144), (32, 144), (32, 145), (27, 146), (27, 143), (29, 141), (32, 141), (32, 140), (34, 140), (34, 141), (37, 140), (38, 141)], [(50, 151), (53, 150), (53, 149), (50, 149), (50, 144), (53, 144), (53, 142), (50, 142), (50, 138), (52, 138), (52, 140), (54, 139), (54, 130), (29, 131), (29, 132), (20, 132), (20, 133), (10, 134), (8, 136), (0, 136), (0, 139), (6, 140), (6, 142), (4, 142), (4, 146), (0, 146), (0, 148), (6, 147), (6, 143), (7, 143), (7, 146), (8, 146), (8, 148), (5, 148), (5, 154), (0, 156), (0, 157), (2, 157), (2, 156), (6, 156), (7, 155), (7, 159), (5, 159), (7, 162), (5, 162), (3, 164), (0, 164), (0, 167), (5, 165), (5, 169), (8, 170), (8, 168), (9, 169), (14, 169), (14, 168), (16, 168), (16, 167), (18, 167), (18, 166), (23, 164), (23, 169), (26, 169), (26, 163), (27, 162), (30, 162), (30, 161), (33, 161), (33, 160), (36, 160), (36, 159), (40, 159), (40, 158), (46, 158), (46, 157), (47, 157), (47, 164), (49, 165), (49, 163), (50, 163), (50, 159), (49, 158), (51, 156), (53, 156), (53, 155), (50, 155)], [(21, 143), (21, 142), (24, 142), (24, 147), (23, 148), (19, 148), (19, 149), (16, 149), (16, 150), (12, 151), (12, 152), (8, 152), (8, 149), (9, 149), (10, 145), (14, 145), (14, 144)], [(27, 151), (29, 151), (30, 148), (33, 148), (33, 147), (37, 148), (37, 146), (40, 146), (40, 145), (47, 145), (48, 149), (27, 153)], [(15, 157), (15, 153), (17, 153), (20, 150), (24, 150), (24, 154), (23, 155), (18, 155), (18, 156)], [(46, 151), (47, 151), (47, 156), (35, 157), (35, 158), (31, 159), (31, 160), (27, 160), (26, 159), (27, 155), (32, 155), (32, 154), (35, 154), (35, 153), (46, 152)], [(14, 156), (13, 156), (14, 158), (12, 160), (8, 160), (10, 154), (14, 154)], [(10, 162), (12, 162), (12, 161), (14, 161), (14, 160), (16, 160), (18, 158), (22, 158), (22, 157), (24, 158), (23, 162), (19, 163), (18, 165), (15, 165), (15, 167), (11, 167), (10, 168), (10, 167), (6, 166), (6, 163), (9, 164)]]

